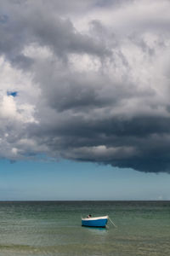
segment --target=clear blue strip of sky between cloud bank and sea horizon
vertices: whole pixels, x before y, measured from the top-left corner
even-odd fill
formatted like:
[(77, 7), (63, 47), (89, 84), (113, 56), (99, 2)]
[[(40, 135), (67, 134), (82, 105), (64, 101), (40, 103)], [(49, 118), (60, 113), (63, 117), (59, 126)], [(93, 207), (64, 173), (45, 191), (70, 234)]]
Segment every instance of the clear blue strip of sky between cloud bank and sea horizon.
[(70, 160), (0, 160), (0, 200), (170, 200), (170, 175)]

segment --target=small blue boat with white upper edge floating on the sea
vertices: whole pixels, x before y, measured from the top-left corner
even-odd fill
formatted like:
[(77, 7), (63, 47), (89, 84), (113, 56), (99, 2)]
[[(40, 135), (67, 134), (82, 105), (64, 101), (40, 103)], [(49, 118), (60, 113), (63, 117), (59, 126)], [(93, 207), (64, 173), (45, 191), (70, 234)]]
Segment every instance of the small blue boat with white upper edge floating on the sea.
[(82, 226), (105, 228), (109, 216), (82, 218)]

